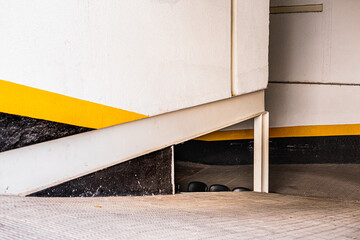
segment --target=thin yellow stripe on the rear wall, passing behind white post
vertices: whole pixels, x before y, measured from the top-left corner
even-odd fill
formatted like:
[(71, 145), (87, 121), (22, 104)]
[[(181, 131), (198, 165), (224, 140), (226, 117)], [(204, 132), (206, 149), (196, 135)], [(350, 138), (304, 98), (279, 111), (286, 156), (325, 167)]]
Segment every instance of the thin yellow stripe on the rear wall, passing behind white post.
[[(360, 124), (344, 125), (315, 125), (270, 128), (270, 138), (284, 137), (322, 137), (322, 136), (349, 136), (360, 135)], [(233, 130), (213, 132), (195, 140), (201, 141), (225, 141), (253, 139), (254, 130)]]

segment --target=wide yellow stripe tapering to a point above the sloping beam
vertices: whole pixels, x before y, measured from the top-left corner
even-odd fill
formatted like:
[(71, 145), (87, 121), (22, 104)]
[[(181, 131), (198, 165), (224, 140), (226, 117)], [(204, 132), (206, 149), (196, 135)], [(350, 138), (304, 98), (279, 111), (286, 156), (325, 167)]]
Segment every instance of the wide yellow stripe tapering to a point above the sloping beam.
[(0, 112), (95, 129), (148, 117), (4, 80), (0, 80)]

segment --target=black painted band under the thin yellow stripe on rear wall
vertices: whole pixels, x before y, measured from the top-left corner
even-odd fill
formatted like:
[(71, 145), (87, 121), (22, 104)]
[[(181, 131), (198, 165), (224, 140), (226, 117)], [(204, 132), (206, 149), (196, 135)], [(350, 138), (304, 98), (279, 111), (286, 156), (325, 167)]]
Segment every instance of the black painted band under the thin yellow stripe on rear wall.
[[(196, 141), (175, 146), (175, 160), (211, 165), (253, 163), (253, 140)], [(360, 164), (360, 136), (272, 138), (271, 164)]]

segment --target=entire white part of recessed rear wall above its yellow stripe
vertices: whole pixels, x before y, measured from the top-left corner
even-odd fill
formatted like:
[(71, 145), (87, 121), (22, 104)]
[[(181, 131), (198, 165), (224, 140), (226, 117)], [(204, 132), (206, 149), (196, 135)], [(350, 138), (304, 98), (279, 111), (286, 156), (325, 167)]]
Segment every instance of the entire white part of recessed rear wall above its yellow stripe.
[(271, 14), (270, 82), (279, 83), (266, 91), (270, 127), (360, 124), (360, 1), (271, 0), (319, 3), (322, 13)]

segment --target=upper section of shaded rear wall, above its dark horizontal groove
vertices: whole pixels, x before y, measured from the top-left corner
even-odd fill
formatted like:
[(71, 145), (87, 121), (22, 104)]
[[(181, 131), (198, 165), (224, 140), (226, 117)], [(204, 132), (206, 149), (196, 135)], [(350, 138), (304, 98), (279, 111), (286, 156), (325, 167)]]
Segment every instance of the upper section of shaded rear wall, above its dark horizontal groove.
[(270, 81), (360, 83), (360, 1), (272, 0), (271, 6), (323, 3), (321, 13), (272, 14)]

